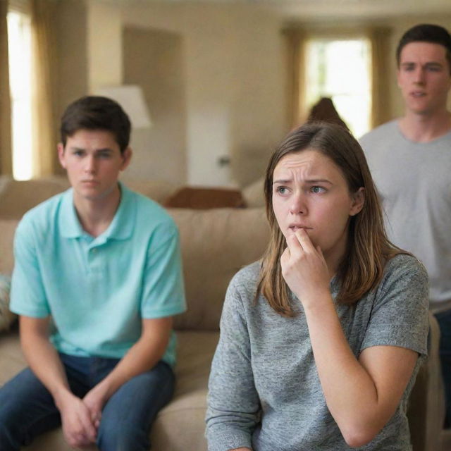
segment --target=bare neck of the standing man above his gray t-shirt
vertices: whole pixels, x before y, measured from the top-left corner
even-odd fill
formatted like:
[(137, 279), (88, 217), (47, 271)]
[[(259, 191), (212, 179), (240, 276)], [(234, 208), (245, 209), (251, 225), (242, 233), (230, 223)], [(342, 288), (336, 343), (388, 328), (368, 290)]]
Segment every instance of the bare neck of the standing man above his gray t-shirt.
[(414, 142), (431, 142), (451, 130), (451, 113), (446, 109), (434, 114), (407, 111), (399, 121), (402, 134)]

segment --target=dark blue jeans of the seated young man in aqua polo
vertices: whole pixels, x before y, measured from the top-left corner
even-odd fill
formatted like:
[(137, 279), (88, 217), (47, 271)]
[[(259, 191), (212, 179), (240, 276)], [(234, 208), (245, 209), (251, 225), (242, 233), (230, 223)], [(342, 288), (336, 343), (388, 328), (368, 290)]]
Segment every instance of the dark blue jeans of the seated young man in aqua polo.
[[(83, 397), (119, 359), (60, 354), (72, 392)], [(149, 430), (157, 412), (171, 400), (174, 374), (165, 362), (123, 384), (106, 402), (97, 433), (101, 451), (149, 450)], [(44, 431), (61, 424), (47, 388), (25, 369), (0, 388), (0, 451), (18, 451)]]

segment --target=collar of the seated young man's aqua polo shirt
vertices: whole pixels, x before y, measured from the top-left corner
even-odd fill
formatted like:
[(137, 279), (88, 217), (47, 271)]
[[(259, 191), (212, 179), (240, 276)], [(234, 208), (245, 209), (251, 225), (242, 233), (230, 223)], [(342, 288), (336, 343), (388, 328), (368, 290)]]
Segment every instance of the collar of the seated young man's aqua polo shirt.
[[(136, 201), (130, 191), (123, 183), (119, 182), (121, 188), (121, 202), (113, 217), (113, 221), (104, 233), (96, 240), (126, 240), (132, 235), (133, 223), (136, 213)], [(63, 193), (61, 199), (61, 210), (59, 215), (61, 235), (66, 238), (79, 238), (86, 235), (78, 220), (77, 212), (73, 204), (73, 188)]]

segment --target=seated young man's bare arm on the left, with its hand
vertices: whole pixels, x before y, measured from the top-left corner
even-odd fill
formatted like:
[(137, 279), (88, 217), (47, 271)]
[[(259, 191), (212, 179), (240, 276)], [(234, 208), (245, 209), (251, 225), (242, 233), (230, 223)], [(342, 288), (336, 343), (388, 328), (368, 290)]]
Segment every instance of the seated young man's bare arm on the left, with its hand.
[(54, 398), (68, 444), (80, 447), (95, 442), (97, 431), (89, 417), (89, 410), (70, 391), (61, 359), (49, 341), (49, 316), (20, 316), (20, 342), (33, 373)]

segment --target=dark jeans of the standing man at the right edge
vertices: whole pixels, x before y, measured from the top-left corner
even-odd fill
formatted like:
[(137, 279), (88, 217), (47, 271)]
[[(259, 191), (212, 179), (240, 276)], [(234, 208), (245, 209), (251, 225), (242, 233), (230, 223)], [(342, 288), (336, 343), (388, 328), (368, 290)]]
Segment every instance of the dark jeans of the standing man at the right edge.
[(451, 310), (435, 314), (440, 326), (440, 363), (445, 388), (445, 428), (451, 427)]

